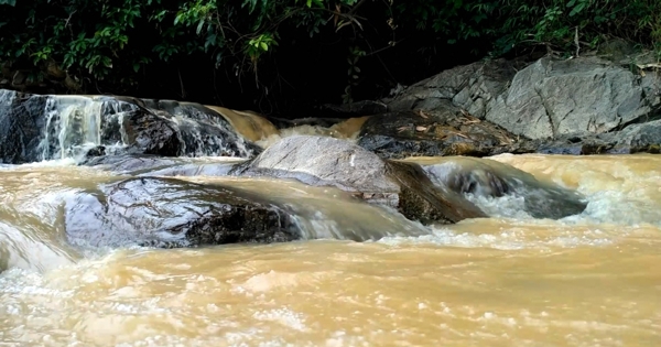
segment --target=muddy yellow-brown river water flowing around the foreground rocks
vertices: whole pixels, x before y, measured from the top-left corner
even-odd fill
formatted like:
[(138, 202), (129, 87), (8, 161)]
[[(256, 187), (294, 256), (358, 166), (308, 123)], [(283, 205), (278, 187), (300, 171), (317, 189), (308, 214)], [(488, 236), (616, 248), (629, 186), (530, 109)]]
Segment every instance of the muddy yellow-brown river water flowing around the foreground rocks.
[(0, 167), (0, 346), (660, 346), (661, 156), (491, 160), (578, 189), (587, 209), (533, 219), (485, 199), (497, 217), (354, 242), (342, 239), (349, 221), (410, 225), (337, 191), (235, 178), (306, 199), (336, 234), (80, 249), (65, 241), (58, 196), (120, 177)]

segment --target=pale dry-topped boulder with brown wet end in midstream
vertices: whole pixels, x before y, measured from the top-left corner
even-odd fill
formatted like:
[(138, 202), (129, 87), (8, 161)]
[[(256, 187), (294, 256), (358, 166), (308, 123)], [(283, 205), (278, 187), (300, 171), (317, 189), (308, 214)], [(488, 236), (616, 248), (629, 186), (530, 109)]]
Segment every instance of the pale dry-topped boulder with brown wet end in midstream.
[(419, 165), (387, 162), (349, 141), (333, 138), (285, 138), (230, 174), (334, 186), (425, 224), (486, 216), (459, 194), (435, 187)]

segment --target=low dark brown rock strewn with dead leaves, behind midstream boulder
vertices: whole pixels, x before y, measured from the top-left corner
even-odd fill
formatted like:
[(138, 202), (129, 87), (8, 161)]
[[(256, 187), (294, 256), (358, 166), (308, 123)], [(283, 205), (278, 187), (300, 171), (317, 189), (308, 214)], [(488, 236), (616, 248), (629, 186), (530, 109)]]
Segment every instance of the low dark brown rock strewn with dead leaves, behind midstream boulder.
[(516, 137), (473, 117), (449, 100), (437, 100), (432, 111), (399, 111), (370, 117), (358, 144), (380, 156), (472, 155), (509, 151)]

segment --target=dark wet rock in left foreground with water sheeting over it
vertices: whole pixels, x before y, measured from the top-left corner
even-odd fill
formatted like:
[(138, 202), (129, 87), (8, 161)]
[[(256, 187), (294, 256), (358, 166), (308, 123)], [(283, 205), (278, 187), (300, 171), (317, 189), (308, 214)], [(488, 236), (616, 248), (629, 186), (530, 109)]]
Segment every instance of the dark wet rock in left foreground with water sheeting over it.
[(141, 177), (79, 193), (65, 203), (71, 242), (192, 247), (300, 238), (284, 210), (227, 186)]

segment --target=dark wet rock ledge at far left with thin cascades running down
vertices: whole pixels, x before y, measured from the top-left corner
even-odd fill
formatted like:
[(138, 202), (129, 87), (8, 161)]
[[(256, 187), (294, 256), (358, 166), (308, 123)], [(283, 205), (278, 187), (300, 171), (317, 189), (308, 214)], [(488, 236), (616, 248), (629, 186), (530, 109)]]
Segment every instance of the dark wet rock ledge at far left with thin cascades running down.
[(176, 101), (0, 90), (0, 126), (2, 163), (121, 153), (251, 158), (261, 152), (217, 112)]

